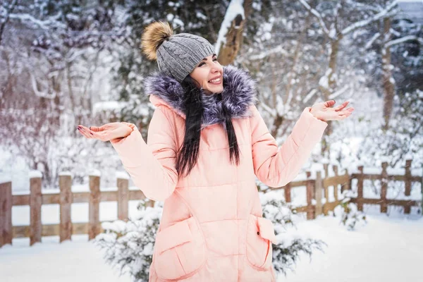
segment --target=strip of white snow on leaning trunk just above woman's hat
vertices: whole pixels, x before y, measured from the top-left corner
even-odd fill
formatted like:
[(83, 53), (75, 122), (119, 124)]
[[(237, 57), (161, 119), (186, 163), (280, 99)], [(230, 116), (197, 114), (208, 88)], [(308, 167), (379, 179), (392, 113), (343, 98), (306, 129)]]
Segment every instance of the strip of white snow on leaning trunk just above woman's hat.
[(219, 56), (221, 45), (226, 43), (226, 35), (228, 34), (228, 30), (231, 27), (233, 20), (238, 15), (241, 16), (243, 20), (245, 20), (243, 4), (244, 0), (231, 0), (231, 3), (229, 3), (228, 8), (226, 9), (225, 17), (223, 18), (223, 22), (221, 24), (221, 28), (219, 30), (216, 45), (214, 47), (217, 56)]

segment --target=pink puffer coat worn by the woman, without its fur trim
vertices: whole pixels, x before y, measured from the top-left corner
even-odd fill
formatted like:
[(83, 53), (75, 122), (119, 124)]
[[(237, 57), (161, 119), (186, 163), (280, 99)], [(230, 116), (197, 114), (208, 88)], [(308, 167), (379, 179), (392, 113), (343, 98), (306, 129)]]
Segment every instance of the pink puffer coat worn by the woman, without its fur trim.
[(247, 104), (247, 117), (233, 118), (240, 165), (229, 161), (226, 131), (214, 123), (202, 129), (196, 166), (178, 178), (175, 157), (185, 116), (165, 99), (150, 96), (157, 109), (147, 143), (135, 125), (128, 137), (112, 141), (135, 185), (146, 197), (164, 201), (149, 281), (276, 281), (274, 227), (262, 217), (255, 178), (271, 187), (293, 180), (327, 123), (305, 108), (278, 148), (256, 106)]

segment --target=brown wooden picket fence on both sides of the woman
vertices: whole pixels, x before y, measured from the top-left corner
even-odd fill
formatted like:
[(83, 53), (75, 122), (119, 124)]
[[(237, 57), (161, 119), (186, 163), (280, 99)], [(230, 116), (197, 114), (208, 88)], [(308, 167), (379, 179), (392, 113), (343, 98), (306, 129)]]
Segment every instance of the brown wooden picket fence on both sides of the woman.
[[(386, 199), (386, 192), (389, 180), (398, 180), (405, 182), (405, 195), (409, 196), (413, 182), (423, 184), (422, 175), (412, 176), (410, 171), (411, 160), (406, 161), (405, 175), (388, 175), (387, 163), (382, 163), (381, 174), (363, 173), (363, 166), (358, 167), (359, 173), (348, 174), (345, 170), (343, 175), (338, 175), (338, 166), (333, 166), (334, 176), (321, 177), (321, 171), (317, 171), (316, 178), (311, 178), (311, 173), (306, 172), (307, 179), (293, 181), (281, 188), (269, 188), (270, 190), (284, 190), (286, 202), (291, 202), (291, 190), (298, 187), (306, 187), (307, 205), (297, 207), (298, 212), (306, 212), (307, 219), (315, 219), (320, 214), (328, 214), (338, 204), (341, 203), (341, 197), (338, 195), (338, 185), (343, 190), (351, 189), (351, 182), (357, 179), (357, 198), (352, 201), (357, 203), (359, 210), (363, 209), (363, 204), (380, 204), (381, 212), (386, 212), (388, 205), (398, 205), (404, 207), (405, 214), (410, 213), (410, 207), (421, 205), (421, 200), (390, 200)], [(324, 165), (325, 176), (328, 176), (329, 167)], [(115, 201), (118, 204), (118, 219), (128, 220), (128, 201), (142, 200), (145, 195), (141, 190), (129, 190), (128, 178), (118, 176), (116, 191), (100, 191), (99, 176), (89, 176), (90, 192), (72, 192), (72, 178), (69, 173), (63, 173), (59, 176), (59, 193), (42, 194), (41, 177), (30, 178), (29, 195), (12, 195), (11, 182), (0, 183), (0, 247), (12, 243), (12, 238), (30, 238), (30, 245), (41, 242), (42, 236), (59, 235), (60, 242), (70, 240), (73, 234), (88, 234), (89, 240), (102, 232), (101, 222), (99, 221), (99, 202)], [(381, 180), (381, 198), (365, 199), (363, 197), (364, 180)], [(329, 202), (329, 188), (333, 186), (334, 202)], [(322, 198), (326, 202), (322, 202)], [(88, 202), (89, 220), (87, 223), (71, 222), (71, 204)], [(59, 204), (60, 223), (42, 224), (41, 207), (42, 204)], [(11, 214), (13, 206), (30, 206), (30, 225), (12, 226)]]

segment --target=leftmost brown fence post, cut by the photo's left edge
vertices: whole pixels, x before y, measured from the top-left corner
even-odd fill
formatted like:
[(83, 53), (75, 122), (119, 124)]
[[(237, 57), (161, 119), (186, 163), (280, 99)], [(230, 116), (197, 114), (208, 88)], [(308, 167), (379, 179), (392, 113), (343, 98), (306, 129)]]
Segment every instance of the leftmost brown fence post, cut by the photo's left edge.
[(0, 247), (12, 245), (12, 182), (0, 183)]

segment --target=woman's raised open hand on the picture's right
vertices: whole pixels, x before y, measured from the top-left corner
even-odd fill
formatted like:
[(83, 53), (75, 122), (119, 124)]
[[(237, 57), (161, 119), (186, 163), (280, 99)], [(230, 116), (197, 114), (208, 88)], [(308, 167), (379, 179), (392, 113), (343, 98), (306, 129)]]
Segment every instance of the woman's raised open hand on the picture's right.
[(343, 102), (341, 106), (331, 108), (335, 104), (335, 100), (320, 102), (312, 106), (310, 113), (321, 121), (341, 121), (348, 118), (354, 111), (354, 108), (344, 109), (348, 103)]

